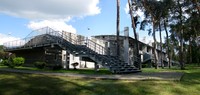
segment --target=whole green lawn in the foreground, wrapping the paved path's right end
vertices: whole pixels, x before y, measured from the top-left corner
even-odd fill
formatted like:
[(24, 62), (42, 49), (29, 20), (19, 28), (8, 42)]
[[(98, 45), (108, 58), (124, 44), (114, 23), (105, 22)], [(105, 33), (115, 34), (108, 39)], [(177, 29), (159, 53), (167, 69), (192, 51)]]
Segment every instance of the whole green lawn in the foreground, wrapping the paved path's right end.
[(200, 67), (168, 71), (185, 74), (181, 81), (125, 81), (0, 72), (0, 95), (199, 95)]

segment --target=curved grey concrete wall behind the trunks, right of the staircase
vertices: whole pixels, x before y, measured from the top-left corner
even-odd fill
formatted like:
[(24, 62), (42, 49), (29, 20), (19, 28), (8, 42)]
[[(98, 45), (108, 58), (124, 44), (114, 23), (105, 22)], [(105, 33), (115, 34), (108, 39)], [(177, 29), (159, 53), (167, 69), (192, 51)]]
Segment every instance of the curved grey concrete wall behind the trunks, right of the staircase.
[[(96, 39), (99, 40), (104, 40), (107, 41), (109, 43), (109, 48), (110, 48), (110, 55), (116, 56), (116, 36), (115, 35), (99, 35), (99, 36), (95, 36)], [(124, 40), (125, 37), (124, 36), (120, 36), (120, 54), (121, 54), (121, 59), (124, 59)], [(134, 55), (136, 49), (135, 47), (135, 40), (133, 38), (129, 37), (129, 62), (132, 63), (134, 60)], [(143, 42), (139, 42), (139, 50), (140, 50), (140, 54), (141, 54), (141, 61), (150, 58), (153, 56), (153, 47), (145, 44)], [(158, 62), (161, 59), (161, 55), (163, 57), (163, 59), (167, 59), (166, 53), (161, 52), (160, 50), (157, 50), (157, 54), (158, 54)]]

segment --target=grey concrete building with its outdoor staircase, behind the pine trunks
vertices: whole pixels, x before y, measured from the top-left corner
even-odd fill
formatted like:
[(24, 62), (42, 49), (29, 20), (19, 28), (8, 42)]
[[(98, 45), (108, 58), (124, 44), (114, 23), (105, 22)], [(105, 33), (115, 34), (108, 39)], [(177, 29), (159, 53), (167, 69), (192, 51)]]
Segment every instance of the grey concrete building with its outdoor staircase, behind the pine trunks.
[[(44, 32), (44, 33), (43, 33)], [(37, 34), (39, 33), (39, 34)], [(109, 68), (112, 72), (134, 72), (137, 66), (135, 39), (120, 36), (120, 56), (116, 54), (116, 35), (98, 35), (87, 38), (81, 35), (54, 31), (50, 28), (33, 32), (34, 36), (4, 44), (5, 51), (25, 58), (25, 65), (36, 61), (47, 63), (48, 67)], [(37, 34), (37, 35), (35, 35)], [(139, 41), (140, 59), (143, 64), (151, 64), (153, 47)], [(159, 59), (167, 60), (166, 53), (157, 49)], [(152, 65), (149, 65), (152, 66)]]

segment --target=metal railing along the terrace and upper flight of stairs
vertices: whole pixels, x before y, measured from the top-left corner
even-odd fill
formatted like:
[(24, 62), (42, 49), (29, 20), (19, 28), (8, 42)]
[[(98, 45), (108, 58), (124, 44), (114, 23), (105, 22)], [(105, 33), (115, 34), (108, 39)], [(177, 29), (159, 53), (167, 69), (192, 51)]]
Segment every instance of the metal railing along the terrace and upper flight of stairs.
[[(38, 31), (36, 33), (36, 31)], [(36, 33), (36, 34), (35, 34)], [(70, 33), (70, 32), (65, 32), (65, 31), (55, 31), (52, 28), (49, 27), (44, 27), (41, 29), (37, 29), (34, 30), (33, 32), (31, 32), (26, 38), (20, 39), (20, 40), (15, 40), (15, 41), (10, 41), (10, 42), (6, 42), (4, 43), (5, 49), (17, 49), (17, 48), (21, 48), (21, 47), (30, 47), (31, 45), (37, 44), (44, 44), (47, 42), (42, 42), (40, 41), (40, 43), (37, 43), (39, 40), (38, 39), (34, 39), (35, 37), (39, 37), (42, 36), (44, 34), (49, 34), (52, 36), (56, 36), (56, 37), (60, 37), (61, 39), (55, 39), (54, 42), (62, 42), (63, 40), (66, 40), (68, 42), (70, 42), (71, 44), (74, 45), (85, 45), (86, 47), (90, 48), (91, 50), (93, 50), (94, 52), (96, 52), (97, 54), (102, 54), (102, 55), (108, 55), (109, 54), (109, 49), (103, 47), (102, 45), (85, 38), (84, 36), (81, 35), (77, 35), (74, 33)], [(32, 36), (34, 35), (34, 36)], [(31, 36), (31, 37), (29, 37)]]

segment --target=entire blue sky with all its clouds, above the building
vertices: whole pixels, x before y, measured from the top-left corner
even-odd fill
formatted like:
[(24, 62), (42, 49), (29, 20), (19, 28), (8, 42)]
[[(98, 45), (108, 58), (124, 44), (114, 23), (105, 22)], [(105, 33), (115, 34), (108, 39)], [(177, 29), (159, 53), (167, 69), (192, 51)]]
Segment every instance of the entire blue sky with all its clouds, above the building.
[[(0, 0), (0, 45), (46, 26), (87, 37), (116, 35), (116, 0)], [(134, 37), (127, 0), (120, 0), (121, 35), (124, 27)], [(137, 32), (140, 40), (152, 42), (147, 31)]]

